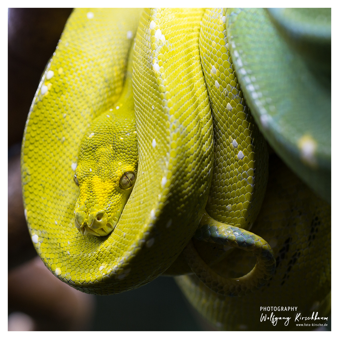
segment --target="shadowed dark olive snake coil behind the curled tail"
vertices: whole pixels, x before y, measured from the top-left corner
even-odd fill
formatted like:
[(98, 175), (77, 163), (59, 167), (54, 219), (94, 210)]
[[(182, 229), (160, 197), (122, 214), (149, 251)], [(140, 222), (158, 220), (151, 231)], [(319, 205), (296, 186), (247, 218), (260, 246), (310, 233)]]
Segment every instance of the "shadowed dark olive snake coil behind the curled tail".
[[(269, 283), (256, 293), (231, 298), (210, 290), (194, 275), (176, 278), (190, 303), (220, 330), (310, 331), (312, 326), (297, 327), (303, 321), (295, 321), (295, 316), (311, 317), (318, 312), (319, 317), (326, 317), (331, 307), (331, 297), (327, 297), (331, 291), (331, 206), (276, 156), (270, 158), (269, 169), (266, 196), (252, 228), (271, 244), (276, 256), (276, 272)], [(242, 276), (253, 267), (248, 252), (207, 245), (199, 254), (224, 277)], [(285, 320), (273, 326), (272, 312), (260, 310), (263, 306), (297, 309), (273, 311), (275, 317), (292, 317), (287, 326)], [(261, 314), (268, 320), (260, 321)]]

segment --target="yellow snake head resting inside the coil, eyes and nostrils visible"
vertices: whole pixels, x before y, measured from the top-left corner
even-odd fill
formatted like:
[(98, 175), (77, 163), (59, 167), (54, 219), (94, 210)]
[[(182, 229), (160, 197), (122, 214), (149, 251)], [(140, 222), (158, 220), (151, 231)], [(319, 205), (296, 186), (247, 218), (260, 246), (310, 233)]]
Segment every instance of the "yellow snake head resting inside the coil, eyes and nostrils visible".
[(74, 223), (82, 235), (111, 233), (136, 181), (135, 125), (121, 126), (111, 120), (95, 119), (82, 140), (74, 176), (80, 187)]

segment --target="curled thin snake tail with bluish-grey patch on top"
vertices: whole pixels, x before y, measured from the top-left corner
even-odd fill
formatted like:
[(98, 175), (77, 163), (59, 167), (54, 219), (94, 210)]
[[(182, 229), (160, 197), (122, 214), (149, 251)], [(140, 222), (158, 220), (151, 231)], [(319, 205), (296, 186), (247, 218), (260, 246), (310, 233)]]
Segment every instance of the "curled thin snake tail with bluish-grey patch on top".
[(251, 272), (236, 279), (228, 279), (211, 269), (199, 256), (193, 241), (190, 241), (183, 251), (187, 264), (212, 291), (239, 297), (261, 288), (272, 278), (276, 261), (271, 246), (264, 239), (242, 228), (217, 222), (207, 213), (203, 215), (200, 226), (194, 234), (195, 239), (239, 248), (252, 252), (257, 257)]

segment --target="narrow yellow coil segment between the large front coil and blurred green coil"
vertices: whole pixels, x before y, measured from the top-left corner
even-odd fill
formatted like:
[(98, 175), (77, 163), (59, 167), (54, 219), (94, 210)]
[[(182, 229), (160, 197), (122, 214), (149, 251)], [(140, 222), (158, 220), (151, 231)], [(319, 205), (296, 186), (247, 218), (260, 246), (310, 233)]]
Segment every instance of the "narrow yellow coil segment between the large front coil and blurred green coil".
[(234, 72), (224, 20), (222, 8), (206, 9), (199, 35), (214, 133), (206, 211), (220, 222), (248, 229), (265, 195), (268, 152)]

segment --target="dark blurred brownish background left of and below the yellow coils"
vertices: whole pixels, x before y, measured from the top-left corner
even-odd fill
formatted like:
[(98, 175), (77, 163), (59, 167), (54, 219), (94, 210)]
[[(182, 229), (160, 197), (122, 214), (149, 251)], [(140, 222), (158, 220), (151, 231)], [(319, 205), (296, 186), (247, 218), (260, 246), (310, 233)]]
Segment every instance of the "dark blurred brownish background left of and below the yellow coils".
[(37, 257), (21, 198), (20, 147), (40, 77), (71, 8), (8, 9), (8, 330), (212, 330), (173, 278), (90, 296), (55, 278)]

